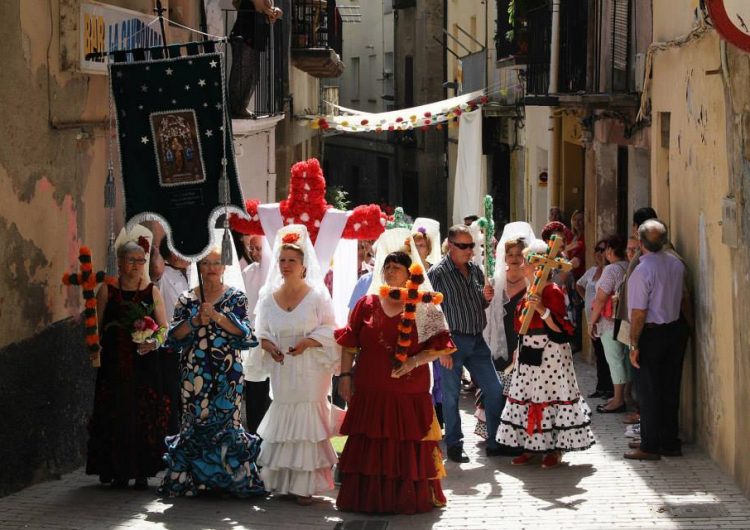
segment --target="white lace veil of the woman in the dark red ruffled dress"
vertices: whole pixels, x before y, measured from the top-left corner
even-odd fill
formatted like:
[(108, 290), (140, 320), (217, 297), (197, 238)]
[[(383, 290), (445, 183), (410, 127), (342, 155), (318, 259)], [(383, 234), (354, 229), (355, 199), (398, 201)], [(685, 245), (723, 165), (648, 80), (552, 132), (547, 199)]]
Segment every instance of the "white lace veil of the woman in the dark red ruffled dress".
[[(406, 247), (406, 241), (409, 241), (409, 248)], [(412, 264), (419, 263), (424, 269), (424, 263), (419, 257), (417, 246), (411, 236), (411, 231), (407, 228), (391, 228), (383, 232), (375, 242), (375, 267), (372, 270), (372, 282), (367, 294), (378, 294), (380, 286), (383, 285), (383, 264), (385, 258), (391, 252), (399, 250), (405, 251), (411, 257)], [(424, 283), (420, 286), (420, 291), (432, 291), (432, 283), (425, 270)], [(433, 304), (417, 304), (417, 340), (425, 342), (430, 337), (441, 331), (448, 329), (448, 322), (440, 306)]]

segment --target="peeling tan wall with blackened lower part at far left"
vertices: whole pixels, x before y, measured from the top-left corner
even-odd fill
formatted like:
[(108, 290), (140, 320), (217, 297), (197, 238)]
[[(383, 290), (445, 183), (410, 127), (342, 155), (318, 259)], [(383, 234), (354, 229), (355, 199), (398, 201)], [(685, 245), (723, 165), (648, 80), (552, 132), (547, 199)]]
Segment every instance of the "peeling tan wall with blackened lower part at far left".
[(72, 66), (78, 6), (0, 2), (0, 395), (13, 404), (0, 431), (0, 495), (79, 466), (86, 444), (94, 371), (80, 292), (60, 280), (83, 243), (104, 263), (108, 105), (106, 77)]

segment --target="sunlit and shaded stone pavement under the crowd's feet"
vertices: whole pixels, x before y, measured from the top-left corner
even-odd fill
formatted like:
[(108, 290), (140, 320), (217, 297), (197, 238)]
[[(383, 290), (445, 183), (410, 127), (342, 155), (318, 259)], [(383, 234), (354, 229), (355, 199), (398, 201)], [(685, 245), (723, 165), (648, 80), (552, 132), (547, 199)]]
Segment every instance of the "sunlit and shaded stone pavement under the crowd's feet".
[[(594, 370), (579, 363), (577, 371), (590, 392)], [(474, 427), (471, 409), (465, 397), (465, 432)], [(622, 415), (594, 413), (593, 420), (597, 444), (549, 470), (488, 459), (469, 435), (471, 462), (446, 464), (448, 506), (429, 514), (343, 514), (334, 507), (336, 492), (309, 507), (275, 498), (160, 499), (156, 479), (149, 491), (116, 490), (78, 470), (0, 499), (0, 528), (750, 528), (750, 501), (705, 453), (687, 446), (682, 458), (625, 461)]]

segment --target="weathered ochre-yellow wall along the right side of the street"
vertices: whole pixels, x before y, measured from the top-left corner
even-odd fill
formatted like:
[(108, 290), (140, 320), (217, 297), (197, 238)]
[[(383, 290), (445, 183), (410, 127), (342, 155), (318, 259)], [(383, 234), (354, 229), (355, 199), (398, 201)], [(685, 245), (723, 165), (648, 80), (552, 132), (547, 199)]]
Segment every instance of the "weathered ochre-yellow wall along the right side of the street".
[[(654, 5), (657, 38), (690, 29), (684, 27), (684, 17), (672, 17), (673, 10)], [(747, 414), (747, 403), (736, 400), (735, 355), (741, 349), (735, 343), (732, 319), (724, 317), (735, 313), (736, 298), (731, 252), (721, 238), (721, 201), (732, 190), (725, 155), (727, 101), (717, 65), (721, 65), (720, 45), (713, 32), (655, 56), (652, 112), (655, 116), (669, 112), (670, 127), (668, 180), (653, 181), (652, 192), (662, 203), (668, 201), (665, 221), (676, 249), (687, 261), (695, 290), (697, 325), (683, 384), (686, 403), (694, 397), (695, 408), (683, 406), (681, 420), (688, 428), (694, 423), (698, 442), (733, 473), (736, 414)], [(654, 150), (661, 143), (659, 136), (654, 135)], [(652, 170), (663, 173), (657, 165), (654, 157)]]

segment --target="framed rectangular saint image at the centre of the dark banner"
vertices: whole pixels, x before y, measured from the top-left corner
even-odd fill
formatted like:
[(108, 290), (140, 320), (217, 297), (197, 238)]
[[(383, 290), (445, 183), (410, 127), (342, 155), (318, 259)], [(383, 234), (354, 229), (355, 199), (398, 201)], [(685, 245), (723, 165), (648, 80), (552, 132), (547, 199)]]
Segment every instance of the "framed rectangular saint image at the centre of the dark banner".
[(205, 182), (198, 124), (193, 110), (152, 112), (149, 116), (161, 186)]

